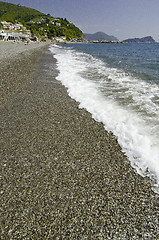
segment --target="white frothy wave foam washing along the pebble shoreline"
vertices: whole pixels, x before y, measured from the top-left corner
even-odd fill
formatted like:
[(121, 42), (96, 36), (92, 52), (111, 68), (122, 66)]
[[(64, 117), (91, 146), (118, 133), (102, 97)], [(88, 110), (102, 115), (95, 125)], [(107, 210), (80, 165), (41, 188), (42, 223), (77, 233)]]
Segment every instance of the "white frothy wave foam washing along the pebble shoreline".
[(159, 88), (89, 54), (57, 45), (50, 50), (70, 97), (117, 136), (132, 165), (143, 176), (149, 170), (159, 187), (159, 104), (152, 101)]

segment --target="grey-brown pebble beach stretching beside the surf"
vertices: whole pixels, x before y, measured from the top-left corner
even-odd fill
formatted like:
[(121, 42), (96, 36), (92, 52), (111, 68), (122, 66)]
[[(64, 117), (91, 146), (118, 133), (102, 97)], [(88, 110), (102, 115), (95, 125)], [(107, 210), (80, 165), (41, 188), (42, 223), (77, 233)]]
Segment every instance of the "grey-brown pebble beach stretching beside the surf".
[(47, 43), (0, 42), (1, 239), (159, 239), (159, 198), (56, 80)]

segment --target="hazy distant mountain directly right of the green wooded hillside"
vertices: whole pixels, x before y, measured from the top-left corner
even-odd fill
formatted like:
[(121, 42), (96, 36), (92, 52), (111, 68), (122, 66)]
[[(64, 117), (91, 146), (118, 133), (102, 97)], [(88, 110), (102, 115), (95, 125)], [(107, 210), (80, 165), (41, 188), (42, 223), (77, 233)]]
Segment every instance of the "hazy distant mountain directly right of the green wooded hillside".
[(94, 34), (84, 33), (84, 36), (90, 41), (119, 41), (116, 37), (107, 35), (104, 32), (96, 32)]

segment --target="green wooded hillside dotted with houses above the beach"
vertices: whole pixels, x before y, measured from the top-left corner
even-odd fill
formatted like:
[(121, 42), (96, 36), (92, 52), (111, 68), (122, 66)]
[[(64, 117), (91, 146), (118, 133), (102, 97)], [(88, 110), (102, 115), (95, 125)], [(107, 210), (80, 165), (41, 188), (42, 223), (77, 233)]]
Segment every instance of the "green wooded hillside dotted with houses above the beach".
[[(0, 1), (0, 22), (22, 23), (33, 36), (83, 38), (82, 31), (66, 18), (54, 18), (35, 9)], [(1, 24), (0, 24), (1, 26)]]

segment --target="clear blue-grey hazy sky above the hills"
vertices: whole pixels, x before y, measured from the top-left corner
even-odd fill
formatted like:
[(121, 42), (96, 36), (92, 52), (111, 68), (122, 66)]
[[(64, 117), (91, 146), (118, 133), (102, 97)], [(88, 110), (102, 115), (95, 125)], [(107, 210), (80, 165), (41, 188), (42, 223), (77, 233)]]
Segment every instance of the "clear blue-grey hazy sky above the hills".
[(159, 0), (3, 0), (72, 21), (84, 33), (119, 40), (152, 36), (159, 42)]

